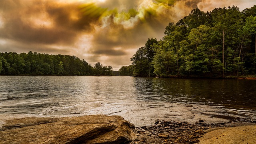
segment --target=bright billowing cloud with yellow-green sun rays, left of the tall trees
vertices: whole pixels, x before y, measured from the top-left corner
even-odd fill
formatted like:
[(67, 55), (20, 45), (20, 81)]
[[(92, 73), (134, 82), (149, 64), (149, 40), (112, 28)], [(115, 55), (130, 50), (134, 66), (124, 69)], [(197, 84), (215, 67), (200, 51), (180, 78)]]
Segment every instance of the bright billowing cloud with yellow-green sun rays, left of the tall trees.
[[(92, 49), (110, 52), (105, 49), (113, 50), (126, 45), (134, 48), (138, 44), (145, 44), (150, 35), (161, 38), (165, 26), (170, 22), (170, 8), (168, 4), (143, 1), (136, 9), (131, 9), (133, 13), (128, 10), (105, 16), (101, 19), (102, 25), (95, 26)], [(99, 54), (98, 51), (95, 52)]]

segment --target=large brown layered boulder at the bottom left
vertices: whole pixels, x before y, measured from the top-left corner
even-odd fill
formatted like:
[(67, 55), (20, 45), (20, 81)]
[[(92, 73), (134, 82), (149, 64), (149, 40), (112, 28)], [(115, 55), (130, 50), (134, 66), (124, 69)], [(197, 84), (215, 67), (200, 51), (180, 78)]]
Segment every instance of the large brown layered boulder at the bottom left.
[(121, 116), (20, 118), (0, 128), (0, 144), (124, 144), (135, 137)]

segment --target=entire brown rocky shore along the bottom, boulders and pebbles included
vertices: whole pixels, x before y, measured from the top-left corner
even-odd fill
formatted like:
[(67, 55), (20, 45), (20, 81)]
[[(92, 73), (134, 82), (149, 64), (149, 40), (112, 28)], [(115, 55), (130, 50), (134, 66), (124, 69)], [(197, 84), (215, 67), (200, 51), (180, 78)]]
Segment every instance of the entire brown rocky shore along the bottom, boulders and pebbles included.
[[(233, 128), (233, 129), (232, 129)], [(256, 141), (254, 119), (195, 123), (157, 119), (135, 127), (121, 116), (19, 118), (0, 127), (0, 144), (209, 144)]]

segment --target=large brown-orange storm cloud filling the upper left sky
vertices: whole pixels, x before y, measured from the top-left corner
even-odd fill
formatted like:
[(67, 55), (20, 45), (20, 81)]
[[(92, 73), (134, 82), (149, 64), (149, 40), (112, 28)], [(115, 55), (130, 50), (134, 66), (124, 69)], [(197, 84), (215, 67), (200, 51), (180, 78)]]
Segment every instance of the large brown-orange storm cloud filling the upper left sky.
[[(1, 38), (27, 43), (70, 44), (90, 32), (97, 18), (85, 17), (79, 4), (54, 1), (1, 0)], [(39, 21), (38, 21), (39, 20)]]

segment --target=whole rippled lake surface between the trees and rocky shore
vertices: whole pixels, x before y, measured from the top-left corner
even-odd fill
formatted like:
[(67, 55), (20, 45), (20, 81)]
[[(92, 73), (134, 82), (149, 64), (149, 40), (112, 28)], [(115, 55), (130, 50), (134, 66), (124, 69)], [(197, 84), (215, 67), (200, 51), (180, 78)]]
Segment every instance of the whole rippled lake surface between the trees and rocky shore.
[[(184, 110), (174, 114), (174, 107), (195, 112), (201, 107), (198, 114), (254, 119), (256, 80), (0, 76), (0, 120), (107, 114), (140, 125), (156, 118), (182, 118)], [(138, 117), (145, 122), (134, 120)]]

